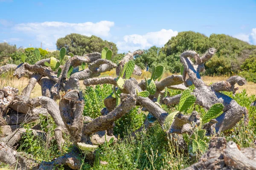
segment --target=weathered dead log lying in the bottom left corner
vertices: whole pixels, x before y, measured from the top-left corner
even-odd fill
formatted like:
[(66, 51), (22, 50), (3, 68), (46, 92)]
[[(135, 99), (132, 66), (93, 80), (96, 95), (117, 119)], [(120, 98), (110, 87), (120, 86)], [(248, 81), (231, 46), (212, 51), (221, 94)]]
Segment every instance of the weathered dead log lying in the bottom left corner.
[(31, 158), (26, 158), (24, 154), (18, 153), (4, 142), (0, 142), (0, 162), (9, 164), (10, 167), (17, 170), (37, 170), (38, 164)]

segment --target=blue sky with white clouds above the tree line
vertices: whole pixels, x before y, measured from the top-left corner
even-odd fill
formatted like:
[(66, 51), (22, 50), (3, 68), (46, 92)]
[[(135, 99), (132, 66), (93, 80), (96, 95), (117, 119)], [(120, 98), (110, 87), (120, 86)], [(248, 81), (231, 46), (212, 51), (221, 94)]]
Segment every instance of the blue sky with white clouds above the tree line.
[(256, 0), (0, 0), (0, 42), (17, 47), (55, 49), (58, 38), (79, 33), (127, 52), (190, 30), (256, 45)]

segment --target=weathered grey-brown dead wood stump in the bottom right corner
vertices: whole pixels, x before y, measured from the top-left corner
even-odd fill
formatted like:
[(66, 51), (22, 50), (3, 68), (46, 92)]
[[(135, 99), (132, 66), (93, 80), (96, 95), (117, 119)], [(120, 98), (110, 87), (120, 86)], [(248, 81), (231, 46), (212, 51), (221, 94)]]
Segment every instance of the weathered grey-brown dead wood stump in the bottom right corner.
[(256, 149), (237, 147), (235, 142), (227, 142), (224, 137), (213, 137), (209, 150), (185, 170), (256, 170)]

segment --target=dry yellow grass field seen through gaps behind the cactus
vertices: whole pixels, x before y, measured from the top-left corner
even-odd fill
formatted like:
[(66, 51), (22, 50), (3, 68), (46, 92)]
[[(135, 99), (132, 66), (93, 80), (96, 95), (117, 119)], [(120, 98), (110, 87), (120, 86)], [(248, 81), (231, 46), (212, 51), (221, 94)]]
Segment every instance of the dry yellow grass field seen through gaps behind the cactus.
[[(164, 78), (166, 78), (170, 75), (172, 75), (172, 74), (166, 72), (163, 75), (162, 79), (164, 79)], [(108, 77), (108, 76), (116, 77), (116, 70), (111, 70), (111, 71), (105, 72), (100, 77)], [(150, 77), (150, 76), (151, 76), (150, 72), (143, 71), (143, 74), (141, 76), (133, 75), (132, 77), (136, 78), (138, 80), (138, 82), (140, 82), (142, 79), (144, 79), (144, 77)], [(221, 76), (221, 77), (204, 76), (204, 77), (202, 77), (202, 79), (204, 80), (204, 82), (207, 85), (209, 85), (212, 82), (224, 81), (224, 80), (228, 79), (228, 77), (224, 77), (224, 76)], [(19, 89), (19, 94), (28, 85), (28, 83), (29, 83), (29, 79), (27, 79), (26, 77), (22, 77), (21, 79), (17, 79), (16, 77), (12, 77), (11, 79), (10, 78), (6, 79), (6, 78), (3, 78), (3, 77), (0, 77), (0, 88), (2, 88), (3, 86), (8, 86), (9, 85), (9, 86), (12, 86), (12, 87), (15, 87), (15, 88)], [(84, 88), (83, 81), (80, 81), (80, 85), (81, 85), (81, 88)], [(242, 91), (243, 89), (245, 89), (248, 95), (251, 95), (251, 94), (256, 95), (256, 83), (247, 82), (243, 86), (238, 86), (238, 85), (236, 85), (236, 86), (239, 87), (239, 90), (236, 93), (239, 93), (239, 91)], [(37, 96), (41, 96), (41, 95), (42, 95), (41, 94), (41, 86), (37, 83), (35, 85), (35, 88), (33, 89), (32, 93), (31, 93), (31, 97), (37, 97)]]

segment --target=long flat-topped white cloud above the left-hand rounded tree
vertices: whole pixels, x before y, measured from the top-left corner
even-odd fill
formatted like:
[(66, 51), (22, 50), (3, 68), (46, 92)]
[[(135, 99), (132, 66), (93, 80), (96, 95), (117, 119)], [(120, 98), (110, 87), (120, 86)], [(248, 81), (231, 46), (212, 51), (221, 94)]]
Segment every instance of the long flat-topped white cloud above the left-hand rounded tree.
[(70, 33), (78, 33), (86, 36), (96, 35), (108, 37), (110, 28), (114, 22), (100, 21), (98, 23), (63, 23), (63, 22), (44, 22), (44, 23), (21, 23), (13, 27), (19, 33), (28, 34), (35, 37), (38, 42), (55, 46), (58, 38)]

